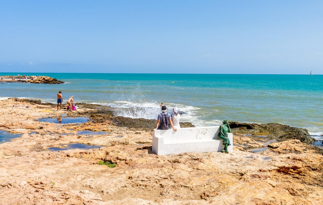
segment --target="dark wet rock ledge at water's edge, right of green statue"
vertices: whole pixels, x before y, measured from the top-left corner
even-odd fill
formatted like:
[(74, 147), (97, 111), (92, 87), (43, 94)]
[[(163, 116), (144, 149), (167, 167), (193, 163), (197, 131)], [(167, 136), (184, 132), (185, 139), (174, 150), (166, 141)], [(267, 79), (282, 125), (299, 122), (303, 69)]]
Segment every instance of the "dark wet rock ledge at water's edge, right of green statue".
[(307, 129), (291, 127), (285, 124), (268, 123), (239, 123), (229, 122), (233, 133), (252, 134), (252, 135), (266, 135), (268, 138), (277, 140), (298, 139), (301, 142), (312, 144), (316, 140), (311, 137)]

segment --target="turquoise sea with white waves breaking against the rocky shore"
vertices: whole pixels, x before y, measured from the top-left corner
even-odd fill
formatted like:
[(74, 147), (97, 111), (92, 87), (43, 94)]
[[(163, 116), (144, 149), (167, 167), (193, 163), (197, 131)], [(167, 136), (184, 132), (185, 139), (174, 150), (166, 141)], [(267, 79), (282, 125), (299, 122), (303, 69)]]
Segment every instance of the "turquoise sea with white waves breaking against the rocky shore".
[[(0, 73), (12, 75), (17, 73)], [(157, 119), (160, 104), (182, 111), (182, 122), (219, 125), (225, 119), (281, 123), (323, 139), (323, 75), (20, 73), (47, 75), (64, 84), (0, 85), (0, 99), (19, 97), (116, 107), (116, 115)]]

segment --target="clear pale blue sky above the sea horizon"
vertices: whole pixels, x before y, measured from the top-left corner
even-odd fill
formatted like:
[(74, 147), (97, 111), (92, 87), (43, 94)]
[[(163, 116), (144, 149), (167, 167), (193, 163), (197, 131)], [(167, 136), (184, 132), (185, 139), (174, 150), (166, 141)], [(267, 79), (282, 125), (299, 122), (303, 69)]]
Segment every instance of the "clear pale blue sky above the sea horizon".
[(0, 1), (0, 72), (323, 74), (323, 1)]

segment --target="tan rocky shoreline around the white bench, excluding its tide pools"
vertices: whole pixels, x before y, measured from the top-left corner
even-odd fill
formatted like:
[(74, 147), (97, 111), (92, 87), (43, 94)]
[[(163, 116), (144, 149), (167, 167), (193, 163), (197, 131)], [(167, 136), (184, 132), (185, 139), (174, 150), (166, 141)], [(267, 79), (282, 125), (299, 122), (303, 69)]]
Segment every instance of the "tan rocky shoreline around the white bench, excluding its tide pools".
[[(323, 156), (306, 144), (311, 138), (305, 129), (231, 122), (233, 153), (157, 156), (151, 151), (155, 120), (115, 117), (113, 108), (83, 103), (73, 112), (16, 98), (2, 100), (0, 107), (0, 129), (22, 133), (0, 144), (1, 205), (322, 204)], [(90, 121), (38, 121), (62, 114)], [(77, 134), (82, 130), (109, 134)], [(102, 147), (47, 150), (69, 143)], [(117, 166), (98, 165), (99, 160)]]

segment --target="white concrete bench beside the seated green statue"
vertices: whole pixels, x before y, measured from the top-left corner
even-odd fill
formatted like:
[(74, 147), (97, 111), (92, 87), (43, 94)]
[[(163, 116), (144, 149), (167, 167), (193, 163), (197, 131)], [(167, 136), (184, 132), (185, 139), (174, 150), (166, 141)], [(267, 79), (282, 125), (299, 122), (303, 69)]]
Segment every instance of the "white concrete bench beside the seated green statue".
[[(152, 151), (157, 155), (174, 155), (183, 152), (220, 152), (224, 145), (217, 139), (220, 126), (187, 127), (154, 130), (152, 133)], [(228, 151), (233, 152), (233, 135), (227, 133), (230, 140)]]

